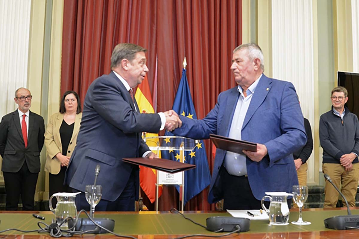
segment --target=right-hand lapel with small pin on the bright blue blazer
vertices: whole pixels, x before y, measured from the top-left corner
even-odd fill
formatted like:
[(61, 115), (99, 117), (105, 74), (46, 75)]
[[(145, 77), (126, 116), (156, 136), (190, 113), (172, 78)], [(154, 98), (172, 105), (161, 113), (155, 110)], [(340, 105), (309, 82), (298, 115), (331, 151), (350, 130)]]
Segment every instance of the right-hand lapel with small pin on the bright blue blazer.
[(252, 96), (246, 117), (244, 118), (242, 130), (244, 127), (246, 127), (247, 123), (251, 120), (253, 114), (267, 97), (267, 94), (271, 88), (271, 83), (272, 80), (263, 74)]

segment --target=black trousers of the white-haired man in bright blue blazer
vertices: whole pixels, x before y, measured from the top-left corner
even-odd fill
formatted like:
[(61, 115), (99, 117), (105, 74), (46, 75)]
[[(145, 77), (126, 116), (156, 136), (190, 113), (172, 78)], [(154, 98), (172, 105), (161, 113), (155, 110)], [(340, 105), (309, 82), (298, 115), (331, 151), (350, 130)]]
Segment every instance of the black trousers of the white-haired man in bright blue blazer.
[[(261, 201), (257, 200), (252, 193), (252, 189), (246, 176), (234, 176), (227, 172), (223, 166), (220, 169), (222, 178), (222, 188), (224, 193), (223, 209), (261, 209)], [(290, 208), (292, 199), (288, 199), (287, 203)], [(268, 208), (269, 202), (265, 201), (264, 205)]]

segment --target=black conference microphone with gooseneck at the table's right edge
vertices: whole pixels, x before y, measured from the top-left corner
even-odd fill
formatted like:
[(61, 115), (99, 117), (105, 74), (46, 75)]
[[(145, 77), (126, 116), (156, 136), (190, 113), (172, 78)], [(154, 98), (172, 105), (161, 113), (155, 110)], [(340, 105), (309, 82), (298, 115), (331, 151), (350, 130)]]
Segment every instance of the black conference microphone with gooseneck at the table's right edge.
[(332, 182), (332, 179), (327, 174), (324, 174), (324, 177), (325, 177), (325, 179), (327, 179), (328, 182), (330, 182), (333, 185), (333, 187), (336, 189), (336, 191), (339, 192), (341, 197), (344, 199), (346, 208), (348, 210), (348, 215), (346, 215), (346, 216), (334, 216), (334, 217), (329, 217), (329, 218), (325, 219), (324, 220), (325, 227), (329, 228), (329, 229), (335, 229), (335, 230), (359, 229), (359, 215), (351, 215), (348, 201), (346, 201), (346, 198), (344, 197), (344, 195), (335, 186), (335, 184)]

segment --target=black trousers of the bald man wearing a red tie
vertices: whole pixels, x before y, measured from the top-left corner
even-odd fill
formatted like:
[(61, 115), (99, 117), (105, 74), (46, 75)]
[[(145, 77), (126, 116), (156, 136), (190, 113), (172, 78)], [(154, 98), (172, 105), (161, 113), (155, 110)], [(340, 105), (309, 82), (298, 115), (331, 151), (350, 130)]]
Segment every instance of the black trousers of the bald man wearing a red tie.
[(6, 210), (18, 210), (21, 195), (22, 210), (33, 211), (38, 173), (31, 173), (25, 161), (19, 172), (3, 172), (3, 174), (6, 190)]

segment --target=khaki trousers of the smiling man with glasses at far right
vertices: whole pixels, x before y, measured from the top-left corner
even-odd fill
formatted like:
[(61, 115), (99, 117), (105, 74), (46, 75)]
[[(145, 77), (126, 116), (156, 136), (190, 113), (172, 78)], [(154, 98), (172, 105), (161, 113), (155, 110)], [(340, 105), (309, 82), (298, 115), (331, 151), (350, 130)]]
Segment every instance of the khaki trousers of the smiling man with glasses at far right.
[[(353, 169), (349, 172), (340, 164), (323, 164), (323, 173), (329, 175), (334, 185), (339, 188), (341, 184), (341, 192), (345, 196), (350, 207), (355, 207), (355, 195), (358, 187), (359, 163), (353, 164)], [(324, 207), (336, 207), (339, 193), (330, 184), (325, 181), (325, 200)], [(345, 203), (343, 201), (343, 203)]]

